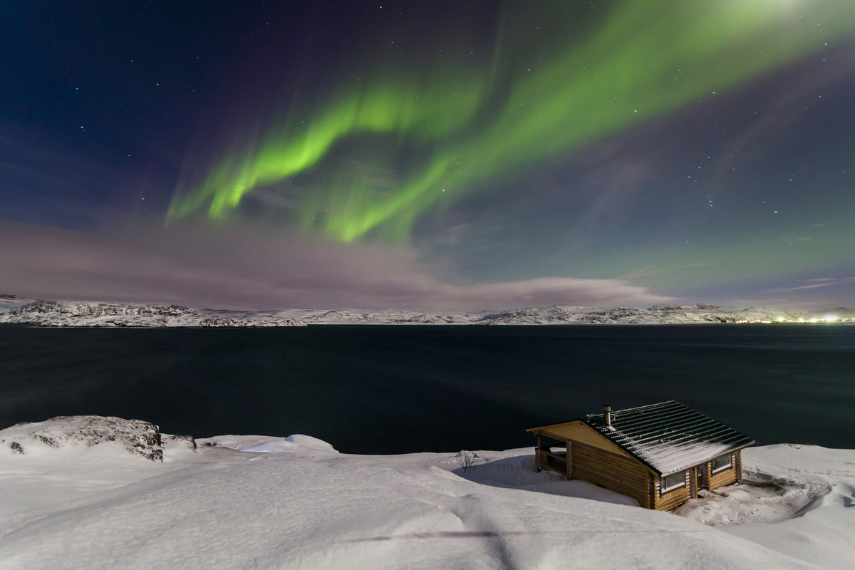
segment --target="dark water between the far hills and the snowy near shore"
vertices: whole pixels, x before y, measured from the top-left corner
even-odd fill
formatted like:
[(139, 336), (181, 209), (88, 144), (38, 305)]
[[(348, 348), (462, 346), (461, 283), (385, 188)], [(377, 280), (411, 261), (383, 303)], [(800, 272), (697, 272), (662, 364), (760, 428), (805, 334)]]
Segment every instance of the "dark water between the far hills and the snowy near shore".
[(855, 326), (0, 326), (0, 427), (101, 414), (345, 452), (507, 449), (669, 399), (761, 444), (855, 448)]

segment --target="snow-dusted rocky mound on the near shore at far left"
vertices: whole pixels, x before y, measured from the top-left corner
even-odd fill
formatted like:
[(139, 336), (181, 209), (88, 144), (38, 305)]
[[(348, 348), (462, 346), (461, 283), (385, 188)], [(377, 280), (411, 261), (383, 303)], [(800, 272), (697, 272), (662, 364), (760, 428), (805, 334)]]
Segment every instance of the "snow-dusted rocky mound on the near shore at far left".
[(142, 420), (97, 415), (58, 416), (38, 423), (16, 424), (0, 431), (0, 449), (13, 455), (43, 455), (46, 450), (79, 445), (91, 448), (107, 443), (121, 444), (131, 455), (163, 461), (160, 430)]

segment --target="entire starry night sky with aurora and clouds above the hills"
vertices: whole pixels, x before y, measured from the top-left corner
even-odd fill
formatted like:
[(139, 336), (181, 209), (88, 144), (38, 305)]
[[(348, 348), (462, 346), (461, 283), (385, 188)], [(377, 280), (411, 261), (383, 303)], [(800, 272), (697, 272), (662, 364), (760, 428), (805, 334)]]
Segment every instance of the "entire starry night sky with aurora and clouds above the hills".
[(0, 292), (855, 306), (852, 0), (9, 2)]

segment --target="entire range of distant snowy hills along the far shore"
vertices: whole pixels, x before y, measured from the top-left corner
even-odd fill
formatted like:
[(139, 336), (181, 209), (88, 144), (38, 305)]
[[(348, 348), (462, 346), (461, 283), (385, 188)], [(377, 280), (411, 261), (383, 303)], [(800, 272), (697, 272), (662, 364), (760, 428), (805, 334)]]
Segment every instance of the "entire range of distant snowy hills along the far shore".
[(452, 313), (398, 309), (285, 309), (252, 313), (132, 305), (36, 301), (0, 295), (0, 323), (40, 326), (304, 326), (304, 325), (663, 325), (692, 323), (855, 320), (855, 310), (822, 313), (770, 307), (721, 307), (705, 303), (636, 307), (553, 305), (506, 311)]

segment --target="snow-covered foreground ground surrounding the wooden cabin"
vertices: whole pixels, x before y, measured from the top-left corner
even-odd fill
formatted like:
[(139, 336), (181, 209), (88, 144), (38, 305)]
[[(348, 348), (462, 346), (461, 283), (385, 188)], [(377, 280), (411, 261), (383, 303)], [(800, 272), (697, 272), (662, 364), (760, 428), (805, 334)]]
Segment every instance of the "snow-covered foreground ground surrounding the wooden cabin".
[[(301, 435), (193, 442), (154, 438), (149, 426), (60, 418), (0, 431), (0, 568), (624, 570), (855, 561), (852, 450), (746, 450), (751, 482), (678, 516), (534, 473), (528, 449), (478, 451), (475, 467), (463, 471), (449, 453), (344, 455)], [(152, 450), (162, 450), (162, 461)]]

